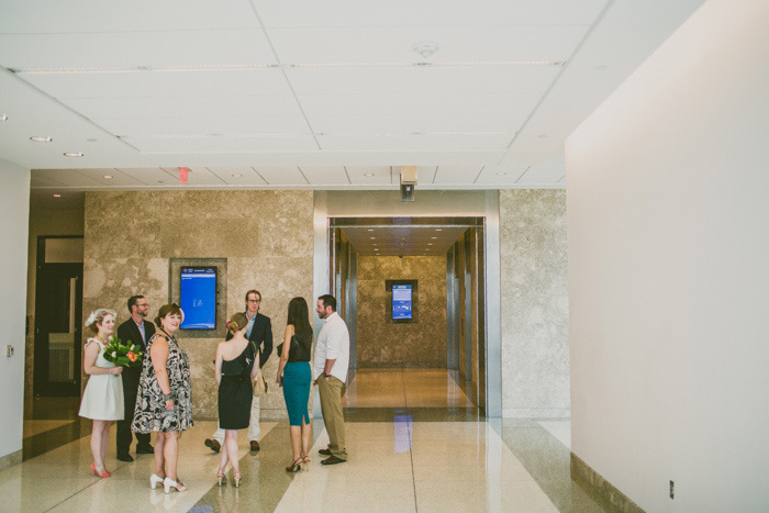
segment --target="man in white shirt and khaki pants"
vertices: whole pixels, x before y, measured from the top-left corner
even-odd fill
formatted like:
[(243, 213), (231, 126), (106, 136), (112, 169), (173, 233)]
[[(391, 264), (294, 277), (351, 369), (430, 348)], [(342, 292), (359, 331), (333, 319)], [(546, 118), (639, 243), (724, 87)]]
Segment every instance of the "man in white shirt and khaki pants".
[(328, 458), (321, 464), (336, 465), (347, 461), (342, 394), (349, 367), (349, 332), (344, 320), (336, 313), (336, 298), (333, 295), (317, 298), (315, 312), (324, 322), (317, 335), (312, 373), (321, 394), (321, 412), (328, 432), (328, 448), (320, 450), (320, 454)]

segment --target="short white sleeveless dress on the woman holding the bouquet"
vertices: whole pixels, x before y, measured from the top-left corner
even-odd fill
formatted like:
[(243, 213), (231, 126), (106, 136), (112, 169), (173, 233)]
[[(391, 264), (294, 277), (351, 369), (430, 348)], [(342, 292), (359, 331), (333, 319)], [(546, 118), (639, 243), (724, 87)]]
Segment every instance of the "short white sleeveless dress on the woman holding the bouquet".
[[(89, 338), (86, 343), (99, 344), (99, 356), (96, 366), (109, 369), (116, 367), (113, 363), (104, 359), (104, 345), (98, 338)], [(80, 412), (85, 419), (97, 421), (120, 421), (124, 417), (123, 412), (123, 380), (118, 375), (91, 375), (82, 392)]]

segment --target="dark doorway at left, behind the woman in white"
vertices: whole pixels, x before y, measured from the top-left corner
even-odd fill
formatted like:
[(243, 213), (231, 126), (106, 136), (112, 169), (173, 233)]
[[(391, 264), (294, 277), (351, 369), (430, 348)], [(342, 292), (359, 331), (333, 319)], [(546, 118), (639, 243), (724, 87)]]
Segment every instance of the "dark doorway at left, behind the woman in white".
[(37, 238), (33, 392), (80, 395), (82, 237)]

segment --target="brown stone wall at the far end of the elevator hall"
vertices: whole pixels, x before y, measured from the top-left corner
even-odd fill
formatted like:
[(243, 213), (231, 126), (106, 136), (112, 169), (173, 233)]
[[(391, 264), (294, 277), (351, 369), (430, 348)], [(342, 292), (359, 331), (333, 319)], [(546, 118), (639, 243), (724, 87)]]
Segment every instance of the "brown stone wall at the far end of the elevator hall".
[[(419, 280), (419, 322), (387, 322), (386, 280)], [(446, 368), (446, 257), (358, 256), (358, 368)]]

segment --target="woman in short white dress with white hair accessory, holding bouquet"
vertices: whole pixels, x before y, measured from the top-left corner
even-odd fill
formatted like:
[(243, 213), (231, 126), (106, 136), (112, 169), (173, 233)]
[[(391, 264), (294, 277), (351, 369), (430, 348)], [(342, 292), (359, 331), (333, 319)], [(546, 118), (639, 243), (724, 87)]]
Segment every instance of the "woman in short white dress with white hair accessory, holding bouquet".
[(91, 473), (100, 478), (112, 476), (104, 466), (110, 425), (112, 421), (123, 419), (123, 380), (120, 378), (123, 368), (104, 359), (104, 349), (109, 348), (107, 341), (114, 333), (116, 316), (114, 310), (99, 309), (86, 321), (94, 336), (86, 343), (82, 357), (82, 369), (90, 378), (82, 393), (79, 415), (93, 420)]

